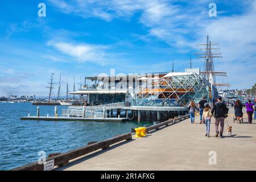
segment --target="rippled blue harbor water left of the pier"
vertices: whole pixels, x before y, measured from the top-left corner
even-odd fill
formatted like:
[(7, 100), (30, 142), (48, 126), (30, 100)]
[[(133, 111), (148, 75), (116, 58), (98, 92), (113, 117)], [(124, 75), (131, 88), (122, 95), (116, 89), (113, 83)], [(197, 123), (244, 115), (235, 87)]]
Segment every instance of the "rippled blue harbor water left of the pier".
[[(11, 169), (38, 160), (38, 152), (66, 152), (124, 134), (145, 123), (21, 121), (20, 117), (36, 115), (31, 103), (0, 102), (0, 170)], [(55, 106), (40, 106), (40, 114), (54, 115)], [(58, 112), (67, 106), (58, 106)]]

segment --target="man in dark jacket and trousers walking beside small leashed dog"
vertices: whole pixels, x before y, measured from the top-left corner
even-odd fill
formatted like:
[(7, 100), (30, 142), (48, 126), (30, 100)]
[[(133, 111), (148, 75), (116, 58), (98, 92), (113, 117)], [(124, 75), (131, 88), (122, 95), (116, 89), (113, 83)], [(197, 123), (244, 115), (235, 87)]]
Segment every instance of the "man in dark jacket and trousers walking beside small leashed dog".
[[(224, 119), (225, 119), (225, 103), (222, 102), (221, 96), (218, 96), (216, 104), (214, 104), (211, 113), (214, 114), (215, 118), (215, 130), (216, 130), (216, 135), (215, 137), (218, 137), (218, 134), (220, 134), (220, 137), (223, 135), (223, 130), (224, 130)], [(218, 131), (218, 125), (221, 125), (220, 132)]]

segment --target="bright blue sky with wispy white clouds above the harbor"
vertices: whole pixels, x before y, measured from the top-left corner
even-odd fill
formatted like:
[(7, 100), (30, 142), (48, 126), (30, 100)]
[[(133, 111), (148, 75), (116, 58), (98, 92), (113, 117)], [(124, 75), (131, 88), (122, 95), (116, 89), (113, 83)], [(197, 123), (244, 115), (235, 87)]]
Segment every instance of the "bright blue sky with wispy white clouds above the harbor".
[[(217, 16), (209, 16), (209, 3)], [(45, 3), (46, 16), (39, 16)], [(47, 82), (61, 75), (80, 87), (80, 77), (100, 73), (203, 69), (194, 55), (207, 35), (221, 48), (216, 71), (230, 89), (250, 88), (256, 77), (256, 0), (23, 0), (0, 1), (0, 96), (47, 96)], [(72, 86), (71, 86), (72, 87)], [(72, 90), (72, 88), (71, 88)], [(53, 95), (57, 89), (53, 90)]]

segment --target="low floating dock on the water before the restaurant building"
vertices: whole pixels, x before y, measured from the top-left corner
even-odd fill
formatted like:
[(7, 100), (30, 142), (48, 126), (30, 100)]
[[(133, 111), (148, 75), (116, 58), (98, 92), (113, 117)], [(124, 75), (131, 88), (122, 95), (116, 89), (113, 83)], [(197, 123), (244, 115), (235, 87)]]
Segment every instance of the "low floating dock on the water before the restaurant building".
[(81, 117), (21, 117), (21, 120), (41, 120), (41, 121), (94, 121), (94, 122), (125, 122), (127, 118), (81, 118)]

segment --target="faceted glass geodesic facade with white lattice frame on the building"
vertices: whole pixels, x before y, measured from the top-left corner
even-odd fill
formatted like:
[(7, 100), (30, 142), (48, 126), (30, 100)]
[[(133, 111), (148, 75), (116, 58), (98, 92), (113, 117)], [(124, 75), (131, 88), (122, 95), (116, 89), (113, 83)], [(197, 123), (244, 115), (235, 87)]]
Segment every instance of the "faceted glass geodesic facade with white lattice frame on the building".
[(211, 84), (196, 73), (173, 72), (146, 79), (135, 94), (133, 106), (184, 107), (191, 100), (198, 103), (203, 96), (208, 101), (212, 98)]

